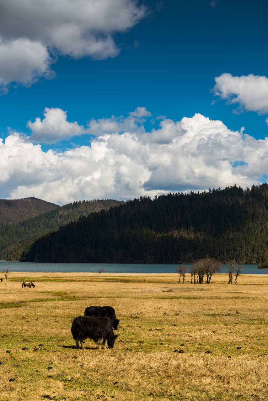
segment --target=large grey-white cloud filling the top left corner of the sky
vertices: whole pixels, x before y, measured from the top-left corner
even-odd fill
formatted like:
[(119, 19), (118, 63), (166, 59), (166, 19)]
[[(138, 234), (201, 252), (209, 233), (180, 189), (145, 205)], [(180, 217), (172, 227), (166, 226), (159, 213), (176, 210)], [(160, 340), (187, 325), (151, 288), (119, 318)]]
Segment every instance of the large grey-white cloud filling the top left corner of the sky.
[(0, 84), (51, 77), (48, 51), (74, 59), (116, 57), (113, 35), (147, 13), (136, 0), (0, 0)]

